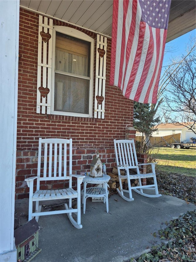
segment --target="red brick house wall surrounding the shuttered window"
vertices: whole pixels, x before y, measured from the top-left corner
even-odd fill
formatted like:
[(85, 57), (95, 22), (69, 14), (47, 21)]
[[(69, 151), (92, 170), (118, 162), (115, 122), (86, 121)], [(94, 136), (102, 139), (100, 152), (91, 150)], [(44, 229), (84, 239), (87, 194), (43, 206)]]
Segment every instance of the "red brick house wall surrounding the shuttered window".
[[(125, 139), (126, 127), (133, 124), (133, 101), (109, 85), (111, 39), (107, 41), (104, 119), (36, 113), (38, 20), (38, 14), (20, 10), (16, 199), (28, 197), (24, 179), (36, 174), (39, 137), (73, 139), (74, 174), (90, 169), (96, 151), (110, 171), (115, 166), (113, 139)], [(53, 23), (73, 27), (96, 39), (96, 34), (87, 30), (56, 20)], [(135, 131), (130, 129), (129, 136), (135, 138)]]

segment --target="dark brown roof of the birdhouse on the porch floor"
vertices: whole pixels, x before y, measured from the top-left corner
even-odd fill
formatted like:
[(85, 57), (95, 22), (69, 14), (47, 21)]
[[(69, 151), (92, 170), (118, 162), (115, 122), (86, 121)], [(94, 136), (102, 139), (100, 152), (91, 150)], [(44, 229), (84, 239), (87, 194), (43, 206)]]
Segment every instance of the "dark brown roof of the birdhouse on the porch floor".
[(35, 218), (14, 230), (15, 245), (23, 243), (40, 229)]

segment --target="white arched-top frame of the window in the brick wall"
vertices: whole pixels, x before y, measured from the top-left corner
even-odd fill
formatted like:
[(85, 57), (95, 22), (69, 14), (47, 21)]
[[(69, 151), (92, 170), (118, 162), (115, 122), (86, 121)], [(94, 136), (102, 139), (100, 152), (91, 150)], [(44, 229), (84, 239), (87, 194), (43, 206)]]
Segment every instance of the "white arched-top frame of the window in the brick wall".
[[(54, 99), (55, 99), (55, 46), (56, 46), (56, 32), (70, 35), (72, 37), (82, 39), (84, 41), (90, 42), (90, 74), (89, 77), (89, 114), (74, 113), (74, 112), (63, 112), (54, 110)], [(66, 26), (56, 25), (53, 27), (53, 42), (52, 42), (52, 81), (51, 81), (51, 114), (52, 115), (67, 115), (67, 116), (77, 116), (77, 117), (92, 117), (92, 106), (93, 106), (93, 65), (94, 65), (94, 39), (89, 37), (83, 32), (78, 31)], [(67, 75), (70, 75), (69, 73)], [(72, 75), (74, 76), (74, 74)], [(83, 78), (81, 76), (81, 78)]]

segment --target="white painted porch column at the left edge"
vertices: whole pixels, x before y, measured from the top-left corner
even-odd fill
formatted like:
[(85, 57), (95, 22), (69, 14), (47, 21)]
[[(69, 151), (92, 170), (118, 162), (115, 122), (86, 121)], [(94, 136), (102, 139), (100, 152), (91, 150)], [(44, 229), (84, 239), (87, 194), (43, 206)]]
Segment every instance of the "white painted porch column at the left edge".
[(14, 262), (19, 0), (0, 0), (0, 25), (0, 261)]

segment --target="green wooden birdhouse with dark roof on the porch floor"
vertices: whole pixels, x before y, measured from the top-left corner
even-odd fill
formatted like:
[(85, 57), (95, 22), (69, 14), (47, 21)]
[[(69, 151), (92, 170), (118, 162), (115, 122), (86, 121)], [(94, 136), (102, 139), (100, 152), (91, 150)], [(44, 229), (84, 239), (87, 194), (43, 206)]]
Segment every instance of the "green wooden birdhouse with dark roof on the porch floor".
[(33, 218), (21, 227), (14, 230), (18, 262), (30, 261), (41, 252), (41, 248), (38, 248), (39, 229), (40, 226), (38, 225), (35, 218)]

